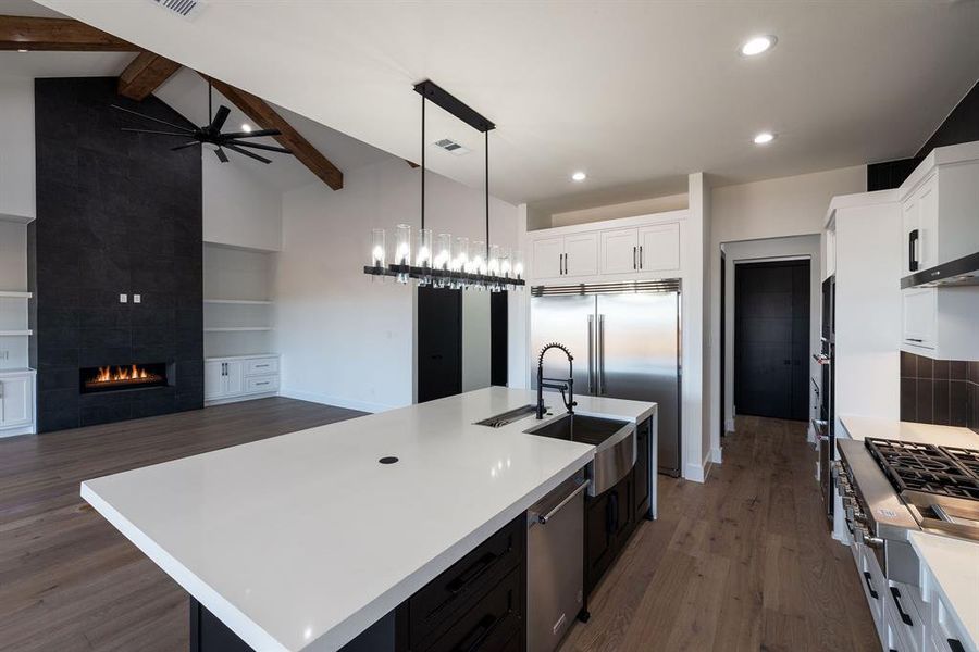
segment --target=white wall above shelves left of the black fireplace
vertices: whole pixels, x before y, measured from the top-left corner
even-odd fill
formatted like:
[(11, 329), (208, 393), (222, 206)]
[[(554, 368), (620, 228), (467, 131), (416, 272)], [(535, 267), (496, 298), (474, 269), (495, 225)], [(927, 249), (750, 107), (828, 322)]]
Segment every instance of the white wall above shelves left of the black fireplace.
[(34, 218), (34, 79), (0, 75), (0, 214)]

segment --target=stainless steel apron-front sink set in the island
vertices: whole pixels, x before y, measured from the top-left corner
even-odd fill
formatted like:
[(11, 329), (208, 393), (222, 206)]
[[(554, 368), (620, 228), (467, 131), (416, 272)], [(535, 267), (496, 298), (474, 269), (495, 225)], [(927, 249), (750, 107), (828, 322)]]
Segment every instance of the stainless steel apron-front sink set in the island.
[(524, 432), (594, 446), (595, 460), (587, 471), (590, 496), (598, 496), (614, 487), (635, 464), (635, 424), (631, 422), (567, 414)]

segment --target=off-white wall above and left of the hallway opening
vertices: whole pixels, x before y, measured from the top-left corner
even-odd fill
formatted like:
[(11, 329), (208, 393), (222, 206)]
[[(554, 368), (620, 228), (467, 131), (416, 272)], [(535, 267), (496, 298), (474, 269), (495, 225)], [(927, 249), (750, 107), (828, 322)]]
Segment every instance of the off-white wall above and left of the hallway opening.
[[(828, 170), (739, 186), (711, 192), (710, 247), (707, 254), (710, 305), (720, 305), (720, 246), (722, 242), (819, 234), (830, 199), (863, 192), (867, 187), (864, 165)], [(733, 278), (730, 279), (733, 283)], [(710, 319), (710, 341), (720, 338), (720, 314)], [(711, 459), (720, 461), (720, 359), (709, 359)]]

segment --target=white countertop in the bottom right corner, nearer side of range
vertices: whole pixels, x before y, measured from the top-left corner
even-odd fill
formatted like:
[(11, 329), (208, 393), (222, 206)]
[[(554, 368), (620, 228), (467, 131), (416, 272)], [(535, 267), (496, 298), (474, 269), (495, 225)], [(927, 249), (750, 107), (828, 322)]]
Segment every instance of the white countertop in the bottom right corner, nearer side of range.
[(979, 543), (928, 532), (910, 532), (908, 540), (956, 625), (971, 638), (966, 649), (979, 649)]

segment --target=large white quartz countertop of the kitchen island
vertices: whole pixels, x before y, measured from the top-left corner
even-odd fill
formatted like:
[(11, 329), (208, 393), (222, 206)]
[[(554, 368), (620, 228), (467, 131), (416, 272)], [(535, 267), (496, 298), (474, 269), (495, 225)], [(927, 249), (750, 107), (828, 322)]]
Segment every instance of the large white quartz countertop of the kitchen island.
[[(656, 414), (575, 398), (582, 414)], [(473, 425), (534, 400), (478, 390), (86, 480), (82, 497), (256, 650), (335, 650), (592, 460), (524, 435), (533, 416)]]

